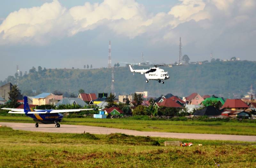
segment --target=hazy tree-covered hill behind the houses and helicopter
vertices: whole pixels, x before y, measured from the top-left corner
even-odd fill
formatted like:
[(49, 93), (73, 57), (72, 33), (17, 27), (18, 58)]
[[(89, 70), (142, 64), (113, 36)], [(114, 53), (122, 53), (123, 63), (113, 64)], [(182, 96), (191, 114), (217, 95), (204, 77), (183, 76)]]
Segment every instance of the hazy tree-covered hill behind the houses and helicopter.
[[(134, 67), (143, 68), (143, 67)], [(148, 67), (144, 67), (148, 68)], [(190, 64), (181, 67), (164, 67), (170, 80), (164, 84), (157, 81), (146, 83), (144, 75), (132, 74), (129, 67), (115, 69), (116, 94), (130, 94), (135, 91), (148, 91), (149, 95), (159, 96), (172, 93), (187, 96), (193, 92), (216, 94), (232, 98), (240, 97), (256, 86), (256, 62), (253, 61), (214, 61), (202, 65)], [(18, 75), (18, 74), (16, 74)], [(0, 85), (15, 83), (15, 75), (8, 76)], [(28, 74), (19, 74), (21, 93), (31, 94), (31, 90), (77, 94), (79, 89), (86, 93), (110, 92), (111, 69), (42, 69), (32, 68)], [(66, 93), (66, 94), (67, 94)]]

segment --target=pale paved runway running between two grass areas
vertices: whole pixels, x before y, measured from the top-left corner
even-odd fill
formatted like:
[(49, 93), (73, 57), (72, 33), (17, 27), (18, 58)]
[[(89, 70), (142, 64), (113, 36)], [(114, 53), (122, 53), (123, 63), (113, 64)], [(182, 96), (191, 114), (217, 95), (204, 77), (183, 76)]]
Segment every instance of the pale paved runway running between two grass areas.
[(12, 129), (19, 129), (25, 131), (40, 131), (40, 132), (58, 132), (58, 133), (83, 133), (89, 132), (91, 134), (110, 134), (110, 133), (124, 133), (134, 136), (155, 136), (168, 137), (180, 139), (205, 139), (205, 140), (229, 140), (229, 141), (244, 141), (256, 142), (256, 136), (244, 135), (223, 135), (223, 134), (192, 134), (192, 133), (173, 133), (173, 132), (143, 132), (129, 129), (117, 129), (106, 127), (93, 127), (86, 125), (66, 125), (61, 124), (60, 128), (55, 128), (54, 124), (39, 124), (36, 128), (34, 123), (16, 123), (16, 122), (0, 122), (0, 125), (11, 127)]

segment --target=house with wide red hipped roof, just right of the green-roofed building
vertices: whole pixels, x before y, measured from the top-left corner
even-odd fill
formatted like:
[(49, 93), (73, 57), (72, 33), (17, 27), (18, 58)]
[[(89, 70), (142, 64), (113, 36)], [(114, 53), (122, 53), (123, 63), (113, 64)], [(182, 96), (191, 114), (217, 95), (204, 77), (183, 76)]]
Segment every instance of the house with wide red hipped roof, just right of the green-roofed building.
[(249, 106), (241, 99), (227, 99), (221, 108), (230, 108), (231, 110), (245, 110)]

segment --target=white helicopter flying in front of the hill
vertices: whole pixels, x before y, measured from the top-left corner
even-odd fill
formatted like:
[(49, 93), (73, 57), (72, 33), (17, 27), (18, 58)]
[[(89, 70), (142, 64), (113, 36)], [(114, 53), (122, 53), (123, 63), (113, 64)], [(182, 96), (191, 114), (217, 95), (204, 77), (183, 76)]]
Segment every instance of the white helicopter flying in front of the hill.
[[(126, 62), (124, 62), (126, 63)], [(146, 82), (148, 83), (149, 80), (156, 80), (159, 83), (162, 80), (162, 83), (164, 84), (164, 80), (170, 79), (170, 76), (168, 75), (168, 72), (164, 72), (163, 69), (160, 69), (159, 67), (173, 67), (173, 66), (183, 66), (184, 64), (169, 64), (169, 65), (154, 65), (154, 67), (151, 67), (149, 69), (133, 69), (132, 64), (133, 63), (128, 63), (130, 64), (130, 70), (133, 72), (133, 74), (140, 73), (140, 74), (145, 74), (145, 77), (147, 78)], [(138, 64), (135, 64), (138, 65)], [(140, 63), (139, 63), (140, 65)], [(142, 65), (142, 66), (149, 66), (149, 65)]]

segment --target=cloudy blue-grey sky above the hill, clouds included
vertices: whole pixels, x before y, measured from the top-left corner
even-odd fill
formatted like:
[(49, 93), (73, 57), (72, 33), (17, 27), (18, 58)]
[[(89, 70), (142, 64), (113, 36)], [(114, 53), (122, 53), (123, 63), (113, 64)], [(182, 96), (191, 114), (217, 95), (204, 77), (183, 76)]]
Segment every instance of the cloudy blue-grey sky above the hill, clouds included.
[(34, 67), (117, 62), (256, 60), (255, 0), (8, 0), (0, 2), (0, 80)]

